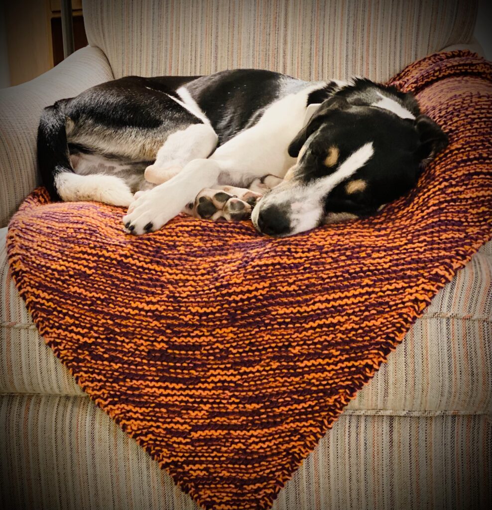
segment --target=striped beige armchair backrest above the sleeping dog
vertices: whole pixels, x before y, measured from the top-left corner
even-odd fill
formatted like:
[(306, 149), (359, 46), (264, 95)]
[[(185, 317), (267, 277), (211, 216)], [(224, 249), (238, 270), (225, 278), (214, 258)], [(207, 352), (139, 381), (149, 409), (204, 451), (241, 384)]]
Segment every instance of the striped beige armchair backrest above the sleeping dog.
[(477, 0), (85, 0), (89, 44), (115, 77), (262, 68), (388, 80), (470, 42)]

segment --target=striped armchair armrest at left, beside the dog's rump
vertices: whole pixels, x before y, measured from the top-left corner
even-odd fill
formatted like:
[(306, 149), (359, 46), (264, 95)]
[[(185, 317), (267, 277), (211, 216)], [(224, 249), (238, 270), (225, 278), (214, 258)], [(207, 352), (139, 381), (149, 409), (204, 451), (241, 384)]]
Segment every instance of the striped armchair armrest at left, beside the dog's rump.
[(0, 90), (0, 227), (39, 184), (36, 137), (43, 108), (113, 78), (102, 51), (86, 46), (40, 77)]

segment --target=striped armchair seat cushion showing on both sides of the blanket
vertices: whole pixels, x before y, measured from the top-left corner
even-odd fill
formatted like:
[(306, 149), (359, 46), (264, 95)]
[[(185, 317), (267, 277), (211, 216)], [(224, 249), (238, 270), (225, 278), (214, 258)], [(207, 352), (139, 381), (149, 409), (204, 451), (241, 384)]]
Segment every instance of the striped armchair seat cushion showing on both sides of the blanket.
[[(0, 393), (85, 395), (39, 336), (9, 275), (0, 229)], [(492, 395), (492, 242), (433, 299), (348, 409), (488, 412)]]

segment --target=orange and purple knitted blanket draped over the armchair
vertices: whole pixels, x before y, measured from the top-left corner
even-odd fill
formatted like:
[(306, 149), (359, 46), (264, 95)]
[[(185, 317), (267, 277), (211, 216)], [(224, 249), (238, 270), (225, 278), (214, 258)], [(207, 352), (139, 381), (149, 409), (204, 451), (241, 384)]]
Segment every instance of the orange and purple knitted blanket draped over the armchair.
[(13, 277), (78, 384), (203, 508), (267, 509), (436, 292), (491, 237), (492, 64), (435, 54), (392, 83), (450, 136), (377, 216), (289, 238), (51, 203), (12, 219)]

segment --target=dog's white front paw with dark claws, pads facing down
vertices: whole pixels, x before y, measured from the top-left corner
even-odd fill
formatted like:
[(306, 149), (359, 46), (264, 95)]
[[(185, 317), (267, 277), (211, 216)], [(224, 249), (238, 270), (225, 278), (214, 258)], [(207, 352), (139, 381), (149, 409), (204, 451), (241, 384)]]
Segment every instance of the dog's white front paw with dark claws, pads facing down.
[[(165, 195), (165, 194), (164, 194)], [(139, 194), (123, 216), (123, 225), (128, 234), (146, 234), (159, 230), (170, 219), (179, 214), (179, 203), (172, 197), (163, 198), (162, 190), (154, 188)]]

